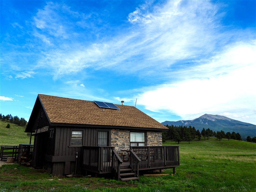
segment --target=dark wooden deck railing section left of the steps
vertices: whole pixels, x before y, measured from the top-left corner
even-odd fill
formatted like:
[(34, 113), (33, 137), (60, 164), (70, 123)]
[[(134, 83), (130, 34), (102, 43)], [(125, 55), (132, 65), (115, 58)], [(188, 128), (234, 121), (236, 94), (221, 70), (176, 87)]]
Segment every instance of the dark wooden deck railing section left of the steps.
[(83, 146), (83, 169), (96, 173), (111, 173), (114, 147)]

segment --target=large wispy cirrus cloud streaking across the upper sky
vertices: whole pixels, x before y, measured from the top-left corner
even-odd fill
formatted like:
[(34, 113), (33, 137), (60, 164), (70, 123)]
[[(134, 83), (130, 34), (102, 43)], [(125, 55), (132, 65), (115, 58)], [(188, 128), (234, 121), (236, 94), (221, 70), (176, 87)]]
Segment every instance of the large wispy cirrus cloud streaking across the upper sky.
[[(48, 44), (60, 26), (67, 28), (62, 14), (56, 11), (60, 7), (61, 4), (48, 3), (34, 18), (35, 24), (42, 25), (45, 30), (37, 31), (37, 36), (42, 35), (42, 41)], [(65, 10), (75, 15), (77, 21), (85, 21), (83, 13), (72, 11), (67, 6)], [(144, 75), (152, 75), (152, 71), (162, 71), (174, 63), (207, 58), (220, 46), (234, 41), (235, 34), (240, 38), (235, 41), (247, 38), (246, 31), (222, 33), (221, 29), (225, 27), (219, 23), (222, 16), (218, 4), (211, 2), (167, 1), (161, 6), (145, 3), (128, 15), (132, 25), (122, 35), (116, 33), (114, 38), (85, 45), (76, 39), (81, 35), (79, 32), (73, 36), (73, 43), (57, 39), (51, 43), (59, 48), (45, 52), (38, 66), (53, 71), (54, 79), (88, 68), (117, 71), (120, 65), (125, 73), (143, 71)]]

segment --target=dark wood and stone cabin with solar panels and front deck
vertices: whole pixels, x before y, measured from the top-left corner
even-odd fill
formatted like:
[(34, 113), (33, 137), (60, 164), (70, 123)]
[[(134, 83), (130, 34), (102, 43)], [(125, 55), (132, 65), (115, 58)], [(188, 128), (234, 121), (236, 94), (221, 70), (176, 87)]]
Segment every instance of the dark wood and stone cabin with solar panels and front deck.
[(32, 166), (53, 176), (113, 175), (179, 166), (179, 147), (162, 146), (167, 127), (134, 106), (38, 94), (25, 132), (34, 135)]

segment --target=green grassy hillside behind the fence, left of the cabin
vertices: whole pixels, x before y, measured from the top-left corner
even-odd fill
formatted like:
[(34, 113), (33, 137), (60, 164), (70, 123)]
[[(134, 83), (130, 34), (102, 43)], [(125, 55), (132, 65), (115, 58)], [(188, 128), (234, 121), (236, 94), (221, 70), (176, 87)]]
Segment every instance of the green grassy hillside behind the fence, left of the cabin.
[[(6, 128), (8, 123), (11, 125), (10, 128)], [(27, 136), (24, 131), (25, 127), (7, 121), (0, 121), (0, 145), (29, 144), (30, 136)], [(31, 144), (33, 143), (34, 137), (31, 141)]]

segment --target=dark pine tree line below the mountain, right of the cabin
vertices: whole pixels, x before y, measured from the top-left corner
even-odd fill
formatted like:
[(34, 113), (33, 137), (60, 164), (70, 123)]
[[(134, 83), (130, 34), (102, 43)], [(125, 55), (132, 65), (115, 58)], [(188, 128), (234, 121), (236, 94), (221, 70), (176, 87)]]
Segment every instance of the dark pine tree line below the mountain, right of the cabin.
[[(171, 139), (178, 143), (180, 143), (181, 141), (188, 141), (190, 143), (190, 141), (192, 141), (193, 139), (197, 138), (198, 140), (200, 140), (202, 137), (204, 139), (206, 138), (209, 139), (209, 137), (216, 137), (219, 139), (219, 141), (222, 138), (226, 138), (228, 140), (229, 139), (234, 139), (238, 141), (242, 140), (241, 135), (239, 133), (235, 133), (234, 131), (232, 133), (227, 132), (225, 134), (225, 132), (222, 130), (215, 132), (209, 128), (208, 129), (203, 128), (202, 131), (200, 132), (199, 129), (196, 130), (194, 126), (187, 127), (182, 125), (180, 126), (166, 125), (166, 127), (168, 127), (169, 130), (162, 133), (163, 141), (165, 141), (166, 139)], [(256, 137), (254, 140), (256, 140)], [(250, 142), (254, 142), (254, 140), (251, 139)]]

